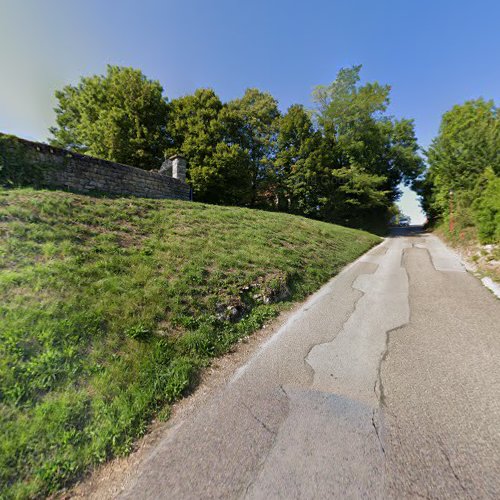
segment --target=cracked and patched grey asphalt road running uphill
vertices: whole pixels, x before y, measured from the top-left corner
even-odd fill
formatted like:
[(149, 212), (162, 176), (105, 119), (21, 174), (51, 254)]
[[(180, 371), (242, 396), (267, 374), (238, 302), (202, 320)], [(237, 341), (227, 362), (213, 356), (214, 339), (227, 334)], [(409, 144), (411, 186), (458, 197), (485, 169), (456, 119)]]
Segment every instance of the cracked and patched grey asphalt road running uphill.
[(500, 301), (401, 230), (161, 440), (120, 498), (500, 498)]

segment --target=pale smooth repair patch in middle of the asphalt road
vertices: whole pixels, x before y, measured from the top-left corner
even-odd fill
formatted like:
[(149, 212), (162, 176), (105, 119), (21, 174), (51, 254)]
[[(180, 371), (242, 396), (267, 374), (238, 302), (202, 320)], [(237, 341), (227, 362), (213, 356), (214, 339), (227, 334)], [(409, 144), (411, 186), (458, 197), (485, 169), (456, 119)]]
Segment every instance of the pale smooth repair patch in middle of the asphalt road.
[(400, 239), (382, 257), (367, 257), (378, 267), (354, 282), (353, 287), (363, 296), (353, 314), (331, 342), (316, 345), (307, 357), (314, 370), (314, 389), (378, 406), (373, 387), (387, 332), (409, 321), (408, 278), (400, 265), (406, 247)]

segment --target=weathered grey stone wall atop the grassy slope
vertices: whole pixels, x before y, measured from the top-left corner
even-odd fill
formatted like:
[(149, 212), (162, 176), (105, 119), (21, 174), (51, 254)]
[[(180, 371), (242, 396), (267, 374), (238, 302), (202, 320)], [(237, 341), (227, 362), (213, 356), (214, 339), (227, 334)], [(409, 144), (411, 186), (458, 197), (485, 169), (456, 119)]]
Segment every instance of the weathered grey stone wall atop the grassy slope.
[[(13, 158), (22, 157), (26, 175), (37, 172), (33, 183), (88, 193), (99, 191), (146, 198), (190, 199), (190, 187), (183, 180), (140, 168), (100, 160), (47, 144), (3, 136), (1, 160), (8, 167)], [(19, 161), (19, 160), (18, 160)], [(185, 173), (184, 173), (185, 178)], [(30, 184), (31, 179), (24, 179)]]

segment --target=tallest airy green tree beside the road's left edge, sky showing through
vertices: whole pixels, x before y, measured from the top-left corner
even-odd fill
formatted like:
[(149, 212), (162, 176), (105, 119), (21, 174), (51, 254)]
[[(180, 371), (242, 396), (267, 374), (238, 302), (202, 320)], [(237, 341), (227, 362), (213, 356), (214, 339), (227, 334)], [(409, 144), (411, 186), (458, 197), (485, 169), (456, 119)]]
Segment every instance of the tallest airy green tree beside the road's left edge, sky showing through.
[(390, 87), (359, 85), (361, 66), (341, 69), (328, 86), (316, 87), (314, 116), (328, 169), (322, 218), (359, 225), (385, 217), (400, 196), (401, 182), (413, 183), (422, 173), (411, 120), (386, 114)]

